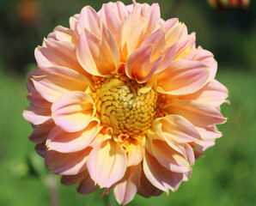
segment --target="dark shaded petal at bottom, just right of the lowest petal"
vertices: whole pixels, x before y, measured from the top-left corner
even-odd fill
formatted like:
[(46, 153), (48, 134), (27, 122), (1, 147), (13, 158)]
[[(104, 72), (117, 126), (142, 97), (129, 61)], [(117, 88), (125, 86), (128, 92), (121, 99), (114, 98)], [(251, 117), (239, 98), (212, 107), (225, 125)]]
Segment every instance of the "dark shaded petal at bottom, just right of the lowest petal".
[(145, 174), (142, 173), (137, 194), (149, 198), (151, 196), (160, 196), (162, 194), (162, 191), (152, 185), (149, 182), (149, 179), (146, 178)]

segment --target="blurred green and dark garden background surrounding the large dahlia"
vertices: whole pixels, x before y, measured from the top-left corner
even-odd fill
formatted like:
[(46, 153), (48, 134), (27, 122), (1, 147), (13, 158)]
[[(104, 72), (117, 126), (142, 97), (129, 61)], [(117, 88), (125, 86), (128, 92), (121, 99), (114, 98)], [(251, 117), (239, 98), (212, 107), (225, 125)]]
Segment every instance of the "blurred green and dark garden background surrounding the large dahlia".
[[(231, 105), (222, 106), (229, 118), (219, 126), (222, 138), (196, 161), (188, 182), (168, 197), (136, 196), (128, 205), (256, 205), (256, 1), (247, 9), (222, 10), (206, 0), (155, 2), (163, 19), (179, 17), (189, 33), (196, 31), (197, 45), (215, 54), (216, 79), (229, 88)], [(76, 185), (60, 185), (28, 141), (32, 127), (21, 116), (29, 104), (25, 80), (35, 69), (34, 48), (57, 25), (68, 27), (83, 6), (98, 10), (102, 3), (107, 1), (0, 0), (0, 206), (118, 205), (113, 195), (82, 196)]]

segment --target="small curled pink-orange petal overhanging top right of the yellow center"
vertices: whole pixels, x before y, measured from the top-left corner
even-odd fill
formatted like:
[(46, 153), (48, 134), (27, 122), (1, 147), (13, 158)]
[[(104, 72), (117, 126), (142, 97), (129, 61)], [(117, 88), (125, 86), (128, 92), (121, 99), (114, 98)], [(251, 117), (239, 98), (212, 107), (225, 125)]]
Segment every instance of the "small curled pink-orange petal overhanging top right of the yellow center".
[(151, 61), (152, 45), (145, 45), (132, 52), (125, 64), (125, 73), (137, 82), (147, 82), (162, 62), (162, 58)]

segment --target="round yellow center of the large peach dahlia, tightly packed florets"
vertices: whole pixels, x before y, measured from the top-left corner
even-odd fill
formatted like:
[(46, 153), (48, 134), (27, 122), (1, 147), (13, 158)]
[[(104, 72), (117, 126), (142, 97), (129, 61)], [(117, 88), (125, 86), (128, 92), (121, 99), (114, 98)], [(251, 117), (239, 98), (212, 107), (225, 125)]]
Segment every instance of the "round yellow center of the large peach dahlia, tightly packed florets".
[(152, 88), (148, 93), (125, 76), (103, 79), (98, 82), (94, 102), (101, 123), (113, 129), (113, 136), (125, 134), (132, 138), (143, 138), (155, 118), (157, 93)]

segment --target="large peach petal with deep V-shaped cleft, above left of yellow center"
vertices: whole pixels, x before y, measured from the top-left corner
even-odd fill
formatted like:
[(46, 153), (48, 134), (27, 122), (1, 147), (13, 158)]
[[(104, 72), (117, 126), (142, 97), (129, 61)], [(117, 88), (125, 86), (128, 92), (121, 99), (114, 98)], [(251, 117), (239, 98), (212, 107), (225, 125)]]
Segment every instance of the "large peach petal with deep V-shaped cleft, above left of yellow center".
[(101, 39), (87, 30), (78, 40), (76, 55), (83, 69), (94, 76), (115, 74), (119, 65), (119, 49), (109, 29), (102, 25)]

